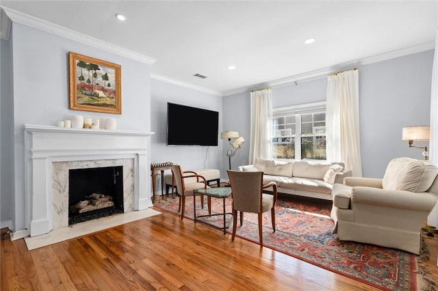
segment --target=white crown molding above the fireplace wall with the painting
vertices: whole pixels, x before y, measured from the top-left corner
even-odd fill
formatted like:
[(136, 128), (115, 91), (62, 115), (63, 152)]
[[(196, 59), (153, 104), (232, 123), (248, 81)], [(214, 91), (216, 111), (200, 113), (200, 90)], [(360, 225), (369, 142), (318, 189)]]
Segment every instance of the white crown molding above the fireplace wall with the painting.
[[(140, 53), (130, 51), (121, 46), (116, 46), (115, 44), (103, 42), (102, 40), (98, 40), (97, 38), (93, 38), (92, 36), (87, 36), (86, 34), (73, 31), (72, 29), (68, 29), (66, 27), (62, 27), (61, 25), (57, 25), (55, 23), (50, 23), (49, 21), (42, 20), (40, 18), (36, 18), (35, 16), (24, 14), (23, 12), (19, 12), (10, 8), (5, 8), (5, 7), (1, 7), (1, 8), (9, 16), (12, 22), (21, 23), (29, 27), (34, 27), (42, 31), (53, 33), (57, 36), (67, 38), (69, 40), (75, 40), (76, 42), (88, 44), (89, 46), (100, 48), (103, 51), (109, 51), (110, 53), (115, 53), (117, 55), (121, 55), (129, 59), (140, 61), (147, 65), (152, 65), (155, 63), (155, 61), (157, 61), (152, 57), (148, 57), (146, 55), (142, 55)], [(2, 33), (3, 33), (3, 29), (2, 29)]]

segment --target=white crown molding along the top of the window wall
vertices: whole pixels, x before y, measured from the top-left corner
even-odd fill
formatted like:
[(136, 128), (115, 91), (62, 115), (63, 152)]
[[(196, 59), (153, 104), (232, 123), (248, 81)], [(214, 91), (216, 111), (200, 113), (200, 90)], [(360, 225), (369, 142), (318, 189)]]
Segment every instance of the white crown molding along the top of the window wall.
[(291, 77), (285, 77), (282, 79), (276, 79), (273, 81), (268, 81), (265, 83), (259, 83), (255, 85), (251, 85), (248, 87), (242, 87), (238, 89), (234, 89), (231, 91), (223, 92), (223, 96), (230, 96), (234, 94), (250, 92), (255, 89), (259, 89), (262, 87), (283, 87), (296, 82), (307, 82), (313, 81), (316, 79), (321, 79), (327, 77), (331, 72), (337, 72), (342, 70), (349, 70), (352, 67), (365, 66), (368, 64), (374, 64), (379, 61), (386, 61), (388, 59), (395, 59), (396, 57), (403, 57), (404, 55), (411, 55), (413, 53), (421, 53), (422, 51), (428, 51), (430, 49), (435, 48), (435, 42), (428, 42), (426, 44), (420, 44), (418, 46), (411, 46), (410, 48), (402, 48), (397, 51), (391, 51), (389, 53), (383, 53), (380, 55), (374, 55), (372, 57), (365, 57), (363, 59), (357, 59), (355, 61), (348, 61), (342, 64), (337, 64), (335, 66), (321, 68), (318, 70), (313, 70), (310, 72), (305, 72), (302, 74), (296, 74)]

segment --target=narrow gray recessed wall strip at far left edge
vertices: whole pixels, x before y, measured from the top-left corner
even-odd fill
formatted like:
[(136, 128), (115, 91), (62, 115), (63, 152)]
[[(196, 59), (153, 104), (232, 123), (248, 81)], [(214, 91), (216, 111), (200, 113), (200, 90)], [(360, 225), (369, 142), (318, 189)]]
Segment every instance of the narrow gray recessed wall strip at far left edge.
[(0, 40), (0, 228), (12, 228), (14, 184), (14, 102), (12, 98), (12, 36)]

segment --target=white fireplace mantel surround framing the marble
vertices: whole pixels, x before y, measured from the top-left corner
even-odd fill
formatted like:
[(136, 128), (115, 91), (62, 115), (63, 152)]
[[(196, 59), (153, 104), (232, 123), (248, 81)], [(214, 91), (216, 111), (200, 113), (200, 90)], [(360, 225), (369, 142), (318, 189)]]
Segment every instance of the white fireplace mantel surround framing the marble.
[(53, 229), (52, 163), (132, 158), (134, 210), (152, 206), (148, 138), (136, 130), (60, 128), (25, 124), (25, 197), (30, 236)]

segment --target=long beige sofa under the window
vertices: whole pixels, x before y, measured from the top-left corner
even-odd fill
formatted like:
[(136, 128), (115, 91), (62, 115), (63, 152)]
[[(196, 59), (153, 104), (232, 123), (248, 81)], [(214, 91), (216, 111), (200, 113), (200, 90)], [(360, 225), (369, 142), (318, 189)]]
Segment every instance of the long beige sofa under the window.
[(254, 165), (237, 168), (240, 171), (263, 171), (263, 184), (275, 182), (279, 193), (331, 200), (334, 183), (351, 176), (343, 163), (312, 161), (274, 161), (257, 158)]

